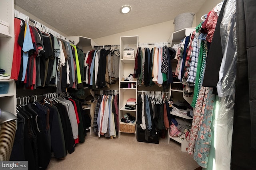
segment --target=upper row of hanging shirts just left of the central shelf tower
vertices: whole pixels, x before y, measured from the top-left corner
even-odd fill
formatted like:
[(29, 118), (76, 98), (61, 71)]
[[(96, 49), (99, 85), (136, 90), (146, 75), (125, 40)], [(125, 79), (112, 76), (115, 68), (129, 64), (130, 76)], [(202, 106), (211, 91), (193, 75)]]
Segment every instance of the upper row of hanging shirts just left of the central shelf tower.
[(119, 53), (112, 49), (88, 51), (84, 67), (84, 80), (90, 88), (110, 88), (119, 79)]

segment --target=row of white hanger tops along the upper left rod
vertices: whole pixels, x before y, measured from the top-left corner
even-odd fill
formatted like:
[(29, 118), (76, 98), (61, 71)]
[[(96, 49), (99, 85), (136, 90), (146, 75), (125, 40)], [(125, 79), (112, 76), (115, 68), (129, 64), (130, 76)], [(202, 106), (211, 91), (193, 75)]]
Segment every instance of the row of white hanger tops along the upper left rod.
[(19, 12), (18, 10), (15, 10), (15, 9), (14, 9), (14, 16), (15, 16), (16, 18), (20, 18), (20, 19), (22, 19), (22, 20), (24, 20), (24, 21), (26, 21), (26, 22), (31, 21), (32, 23), (34, 23), (33, 26), (34, 26), (34, 27), (37, 27), (37, 28), (40, 29), (41, 31), (51, 33), (51, 34), (54, 35), (55, 37), (60, 38), (60, 39), (63, 39), (63, 40), (65, 40), (65, 41), (69, 41), (69, 42), (71, 42), (72, 44), (75, 43), (74, 41), (71, 41), (70, 39), (64, 37), (63, 35), (60, 35), (60, 34), (57, 33), (56, 31), (53, 31), (52, 29), (50, 29), (50, 28), (46, 27), (45, 25), (39, 23), (38, 21), (30, 19), (29, 16), (27, 16), (27, 15), (25, 15), (25, 14)]

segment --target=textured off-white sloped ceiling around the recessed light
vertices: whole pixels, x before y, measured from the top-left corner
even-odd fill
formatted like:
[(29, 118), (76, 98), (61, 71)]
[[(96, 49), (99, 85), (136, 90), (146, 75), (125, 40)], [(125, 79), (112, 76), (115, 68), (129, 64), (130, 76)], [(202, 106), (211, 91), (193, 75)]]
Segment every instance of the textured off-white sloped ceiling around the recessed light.
[[(206, 0), (14, 0), (68, 36), (96, 39), (173, 20), (183, 12), (197, 13)], [(123, 5), (128, 14), (121, 14)], [(32, 18), (33, 19), (33, 18)]]

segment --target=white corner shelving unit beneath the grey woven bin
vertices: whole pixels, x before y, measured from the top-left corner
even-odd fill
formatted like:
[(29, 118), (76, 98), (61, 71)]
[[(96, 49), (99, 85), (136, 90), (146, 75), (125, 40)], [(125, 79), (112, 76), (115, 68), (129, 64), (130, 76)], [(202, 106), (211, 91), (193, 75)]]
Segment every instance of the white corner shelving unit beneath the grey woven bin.
[[(184, 29), (181, 29), (179, 31), (176, 31), (174, 33), (172, 33), (171, 37), (170, 37), (170, 42), (172, 45), (176, 44), (176, 43), (180, 43), (180, 41), (182, 39), (184, 39), (186, 36), (190, 35), (190, 33), (192, 33), (193, 31), (195, 30), (195, 28), (184, 28)], [(172, 61), (172, 71), (174, 72), (176, 70), (176, 66), (177, 66), (177, 60), (173, 60)], [(173, 98), (174, 99), (178, 99), (178, 100), (181, 100), (181, 99), (184, 99), (186, 100), (189, 104), (192, 103), (192, 99), (193, 97), (186, 97), (184, 96), (184, 92), (183, 90), (177, 90), (177, 89), (174, 89), (174, 87), (179, 87), (179, 88), (182, 88), (182, 84), (181, 82), (173, 82), (170, 86), (170, 94), (172, 94)], [(177, 116), (177, 117), (181, 117), (183, 119), (193, 119), (191, 117), (188, 117), (187, 115), (177, 115), (176, 113), (174, 112), (170, 112), (171, 115), (174, 115), (174, 116)], [(168, 129), (168, 144), (170, 143), (170, 139), (174, 140), (174, 141), (177, 141), (178, 143), (181, 144), (181, 148), (182, 148), (182, 151), (186, 151), (186, 147), (188, 147), (188, 141), (186, 141), (186, 139), (184, 139), (183, 141), (180, 140), (178, 137), (172, 137), (170, 136), (170, 133), (169, 133), (169, 129)]]

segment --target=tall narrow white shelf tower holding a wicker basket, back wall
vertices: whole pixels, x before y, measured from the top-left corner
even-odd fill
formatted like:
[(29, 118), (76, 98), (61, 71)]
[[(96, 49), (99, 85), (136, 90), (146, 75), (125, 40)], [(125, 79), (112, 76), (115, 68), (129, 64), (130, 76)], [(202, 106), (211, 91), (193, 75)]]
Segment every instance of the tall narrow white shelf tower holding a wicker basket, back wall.
[[(126, 37), (120, 37), (120, 62), (119, 62), (119, 119), (126, 114), (130, 113), (132, 116), (137, 117), (137, 111), (135, 110), (129, 110), (125, 109), (126, 102), (129, 98), (135, 98), (137, 100), (137, 81), (122, 81), (122, 77), (128, 77), (130, 74), (133, 74), (134, 72), (134, 66), (135, 66), (135, 60), (134, 59), (123, 59), (123, 50), (126, 49), (126, 47), (129, 47), (129, 49), (134, 49), (134, 52), (136, 54), (136, 50), (138, 48), (139, 38), (138, 35), (136, 36), (126, 36)], [(125, 83), (133, 83), (134, 88), (120, 88), (121, 84)], [(137, 121), (137, 120), (136, 120)], [(119, 126), (120, 127), (120, 126)], [(137, 127), (135, 127), (135, 139), (137, 132)], [(120, 137), (121, 133), (128, 133), (128, 132), (122, 132), (119, 128), (119, 134), (118, 137)]]

